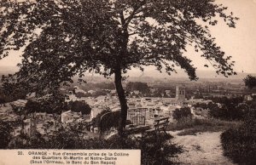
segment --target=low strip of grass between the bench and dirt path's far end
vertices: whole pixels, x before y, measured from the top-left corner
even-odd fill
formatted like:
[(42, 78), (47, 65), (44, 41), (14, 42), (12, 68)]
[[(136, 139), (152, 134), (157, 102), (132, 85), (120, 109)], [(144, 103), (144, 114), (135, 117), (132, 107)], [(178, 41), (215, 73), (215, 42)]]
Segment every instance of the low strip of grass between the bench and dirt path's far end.
[(203, 132), (219, 132), (225, 131), (229, 128), (238, 128), (241, 122), (237, 121), (223, 121), (214, 118), (204, 118), (204, 119), (192, 119), (183, 118), (178, 122), (174, 122), (168, 126), (166, 130), (177, 131), (183, 130), (177, 135), (196, 135), (196, 133)]

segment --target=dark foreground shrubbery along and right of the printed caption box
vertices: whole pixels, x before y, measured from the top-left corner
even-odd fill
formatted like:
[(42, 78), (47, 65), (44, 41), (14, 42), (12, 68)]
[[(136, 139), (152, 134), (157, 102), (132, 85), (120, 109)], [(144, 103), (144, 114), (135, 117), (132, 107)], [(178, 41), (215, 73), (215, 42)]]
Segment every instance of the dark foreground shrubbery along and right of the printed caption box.
[(33, 134), (28, 138), (20, 135), (9, 142), (13, 149), (139, 149), (143, 165), (174, 164), (172, 158), (181, 153), (182, 146), (172, 144), (170, 134), (146, 134), (143, 137), (127, 136), (125, 139), (113, 135), (109, 139), (83, 139), (72, 129), (62, 129), (53, 136)]

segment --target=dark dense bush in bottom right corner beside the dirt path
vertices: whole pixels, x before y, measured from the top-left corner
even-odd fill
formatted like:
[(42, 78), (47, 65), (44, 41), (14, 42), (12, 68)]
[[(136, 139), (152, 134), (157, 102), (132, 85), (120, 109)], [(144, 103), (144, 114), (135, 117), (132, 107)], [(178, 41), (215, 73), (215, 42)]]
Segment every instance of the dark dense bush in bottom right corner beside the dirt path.
[(256, 111), (251, 110), (240, 128), (221, 134), (224, 156), (239, 164), (256, 164)]

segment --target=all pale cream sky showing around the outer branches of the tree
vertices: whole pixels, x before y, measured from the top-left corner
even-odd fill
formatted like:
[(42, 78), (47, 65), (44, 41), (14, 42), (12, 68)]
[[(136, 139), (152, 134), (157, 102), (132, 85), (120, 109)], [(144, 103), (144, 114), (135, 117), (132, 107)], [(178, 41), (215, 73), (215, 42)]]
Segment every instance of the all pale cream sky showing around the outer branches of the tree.
[[(235, 71), (256, 73), (256, 0), (216, 0), (216, 3), (224, 4), (240, 20), (237, 20), (236, 28), (229, 28), (224, 21), (219, 21), (218, 26), (211, 28), (212, 36), (216, 37), (222, 50), (236, 61)], [(17, 65), (19, 54), (21, 51), (12, 51), (9, 57), (0, 60), (0, 66)], [(211, 66), (204, 67), (207, 61), (194, 51), (188, 51), (187, 55), (198, 70), (214, 71)]]

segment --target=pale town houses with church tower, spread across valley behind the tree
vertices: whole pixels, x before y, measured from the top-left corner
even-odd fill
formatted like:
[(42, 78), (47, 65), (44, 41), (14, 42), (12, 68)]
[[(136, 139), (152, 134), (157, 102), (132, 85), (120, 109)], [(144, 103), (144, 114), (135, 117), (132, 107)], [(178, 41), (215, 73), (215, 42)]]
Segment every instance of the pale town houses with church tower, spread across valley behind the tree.
[[(79, 87), (74, 87), (73, 91), (70, 91), (66, 95), (66, 102), (69, 101), (82, 101), (90, 105), (90, 115), (83, 115), (81, 112), (63, 111), (61, 115), (48, 114), (41, 112), (34, 112), (29, 114), (23, 121), (23, 128), (17, 128), (15, 135), (20, 134), (20, 131), (24, 131), (26, 134), (32, 134), (37, 130), (40, 134), (50, 134), (55, 131), (57, 123), (67, 125), (74, 121), (76, 122), (90, 122), (92, 118), (97, 114), (105, 110), (107, 107), (112, 111), (119, 111), (119, 99), (113, 94), (114, 91), (109, 91), (107, 95), (101, 95), (98, 97), (77, 97), (76, 93), (83, 93), (84, 91)], [(93, 91), (90, 91), (93, 92)], [(170, 92), (170, 91), (169, 91)], [(127, 119), (137, 125), (152, 124), (155, 117), (170, 117), (172, 120), (172, 113), (176, 109), (181, 107), (190, 107), (192, 112), (195, 113), (196, 109), (193, 109), (193, 105), (196, 103), (208, 103), (209, 100), (186, 100), (186, 90), (183, 86), (176, 87), (176, 95), (173, 98), (163, 97), (131, 97), (127, 98), (128, 114)], [(11, 103), (15, 106), (24, 107), (26, 100), (17, 100)], [(3, 118), (6, 113), (0, 113), (0, 117)], [(10, 114), (7, 114), (9, 116)], [(9, 116), (10, 117), (10, 116)], [(22, 130), (21, 130), (22, 129)]]

